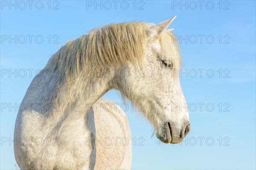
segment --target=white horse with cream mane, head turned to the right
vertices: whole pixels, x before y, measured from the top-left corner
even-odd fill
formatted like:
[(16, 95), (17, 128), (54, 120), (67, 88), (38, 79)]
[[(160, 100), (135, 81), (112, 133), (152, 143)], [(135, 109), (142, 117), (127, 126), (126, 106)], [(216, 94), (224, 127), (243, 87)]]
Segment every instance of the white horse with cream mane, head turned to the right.
[[(96, 160), (98, 148), (91, 139), (97, 137), (98, 132), (113, 133), (113, 129), (128, 127), (122, 125), (108, 132), (108, 127), (113, 127), (111, 122), (101, 126), (106, 115), (100, 112), (93, 117), (95, 102), (113, 88), (137, 105), (157, 131), (160, 141), (181, 142), (189, 132), (190, 122), (179, 76), (175, 74), (181, 65), (179, 48), (172, 29), (167, 30), (174, 18), (157, 25), (109, 24), (61, 47), (49, 59), (42, 74), (32, 80), (23, 99), (23, 103), (31, 107), (17, 114), (15, 138), (31, 139), (15, 145), (19, 167), (103, 168), (101, 161)], [(44, 74), (47, 71), (51, 72), (50, 76)], [(106, 120), (112, 121), (111, 116), (106, 116)], [(122, 134), (129, 137), (129, 130)], [(53, 143), (53, 140), (56, 141)], [(99, 156), (111, 164), (104, 154), (109, 148), (102, 147)], [(130, 149), (123, 150), (129, 153)], [(131, 154), (120, 156), (118, 168), (130, 168), (129, 156)]]

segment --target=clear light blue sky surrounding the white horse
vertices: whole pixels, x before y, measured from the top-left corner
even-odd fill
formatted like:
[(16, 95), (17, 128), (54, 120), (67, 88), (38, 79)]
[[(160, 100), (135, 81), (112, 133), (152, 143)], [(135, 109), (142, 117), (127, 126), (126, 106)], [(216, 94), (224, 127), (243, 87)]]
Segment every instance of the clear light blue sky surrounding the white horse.
[[(190, 108), (191, 130), (181, 145), (163, 144), (151, 138), (151, 125), (128, 109), (134, 139), (132, 168), (256, 168), (255, 1), (118, 1), (116, 9), (112, 1), (102, 1), (102, 9), (85, 0), (32, 1), (31, 8), (23, 2), (0, 1), (1, 170), (15, 169), (13, 143), (3, 140), (13, 140), (17, 106), (36, 71), (60, 45), (99, 25), (159, 23), (174, 15), (169, 28), (175, 28), (173, 33), (180, 38), (184, 72), (180, 82)], [(122, 103), (114, 90), (103, 98)], [(138, 144), (142, 139), (143, 146)]]

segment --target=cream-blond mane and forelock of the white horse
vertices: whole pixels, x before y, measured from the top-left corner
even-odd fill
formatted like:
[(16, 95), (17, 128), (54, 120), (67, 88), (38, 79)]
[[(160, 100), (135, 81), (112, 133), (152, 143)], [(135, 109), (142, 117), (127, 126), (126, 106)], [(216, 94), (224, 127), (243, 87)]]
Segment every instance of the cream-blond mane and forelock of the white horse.
[[(115, 65), (142, 63), (145, 54), (145, 40), (150, 34), (149, 24), (128, 22), (108, 24), (94, 28), (87, 35), (69, 40), (49, 59), (42, 71), (59, 72), (59, 82), (71, 82), (86, 69), (99, 71)], [(176, 37), (171, 31), (163, 30), (159, 40), (166, 56), (176, 56), (176, 64), (181, 64)], [(168, 48), (167, 48), (168, 47)]]

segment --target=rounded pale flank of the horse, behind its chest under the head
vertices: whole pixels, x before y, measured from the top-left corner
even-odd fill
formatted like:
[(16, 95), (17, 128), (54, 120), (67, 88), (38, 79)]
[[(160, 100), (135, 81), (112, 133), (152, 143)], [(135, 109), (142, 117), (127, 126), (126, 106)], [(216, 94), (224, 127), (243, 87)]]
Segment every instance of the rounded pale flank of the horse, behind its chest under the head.
[(131, 169), (131, 130), (127, 116), (110, 100), (93, 105), (96, 128), (95, 169)]

